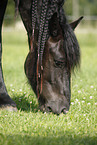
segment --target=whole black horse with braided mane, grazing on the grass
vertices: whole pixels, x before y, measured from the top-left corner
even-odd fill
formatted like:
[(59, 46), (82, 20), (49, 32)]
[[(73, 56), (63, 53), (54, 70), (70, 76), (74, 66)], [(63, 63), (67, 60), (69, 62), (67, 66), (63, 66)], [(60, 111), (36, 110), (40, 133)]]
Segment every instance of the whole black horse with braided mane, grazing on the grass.
[[(71, 71), (80, 63), (80, 49), (73, 30), (82, 17), (68, 24), (62, 8), (64, 0), (15, 0), (15, 4), (28, 34), (25, 74), (38, 97), (40, 110), (66, 114), (70, 107)], [(1, 0), (0, 28), (6, 5), (7, 0)], [(7, 94), (3, 81), (1, 48), (0, 45), (0, 106), (14, 109), (16, 104)]]

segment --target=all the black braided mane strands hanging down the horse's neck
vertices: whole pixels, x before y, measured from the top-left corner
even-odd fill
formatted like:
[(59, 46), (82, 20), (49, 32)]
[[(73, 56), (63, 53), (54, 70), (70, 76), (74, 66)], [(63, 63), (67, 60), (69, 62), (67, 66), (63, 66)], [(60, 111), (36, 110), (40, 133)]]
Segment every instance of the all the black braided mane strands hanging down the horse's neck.
[[(32, 29), (33, 29), (32, 35), (34, 35), (35, 29), (37, 2), (38, 2), (37, 0), (32, 1)], [(51, 19), (52, 15), (55, 12), (58, 12), (60, 10), (60, 7), (62, 7), (63, 3), (64, 0), (42, 0), (42, 10), (39, 22), (39, 37), (38, 37), (38, 57), (40, 66), (42, 66), (42, 58), (45, 42), (49, 37), (48, 33), (49, 20)]]

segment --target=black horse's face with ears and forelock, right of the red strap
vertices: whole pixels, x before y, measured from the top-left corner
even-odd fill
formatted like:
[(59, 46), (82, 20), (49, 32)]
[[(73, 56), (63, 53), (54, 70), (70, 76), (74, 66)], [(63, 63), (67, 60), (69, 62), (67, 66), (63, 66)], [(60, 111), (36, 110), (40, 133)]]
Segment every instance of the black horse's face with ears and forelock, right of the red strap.
[(70, 25), (66, 24), (64, 34), (57, 13), (50, 19), (50, 37), (43, 55), (42, 92), (39, 97), (40, 109), (43, 111), (66, 114), (69, 110), (71, 70), (79, 64), (80, 59), (79, 45), (73, 29), (81, 19)]

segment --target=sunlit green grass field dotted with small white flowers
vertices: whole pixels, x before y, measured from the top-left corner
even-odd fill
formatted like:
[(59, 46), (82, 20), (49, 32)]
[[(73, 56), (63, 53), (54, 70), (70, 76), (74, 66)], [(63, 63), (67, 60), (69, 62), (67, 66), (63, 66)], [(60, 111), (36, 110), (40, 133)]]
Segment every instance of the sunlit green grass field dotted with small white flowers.
[(81, 68), (67, 115), (43, 114), (24, 74), (25, 31), (3, 32), (3, 70), (17, 112), (0, 110), (0, 145), (97, 145), (97, 33), (77, 33)]

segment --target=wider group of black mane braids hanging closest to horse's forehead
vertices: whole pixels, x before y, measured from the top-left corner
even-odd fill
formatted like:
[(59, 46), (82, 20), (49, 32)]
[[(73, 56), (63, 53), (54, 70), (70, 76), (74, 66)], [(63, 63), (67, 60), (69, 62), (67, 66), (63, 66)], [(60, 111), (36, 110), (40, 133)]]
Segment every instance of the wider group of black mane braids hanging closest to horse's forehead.
[[(49, 3), (48, 3), (48, 0), (43, 0), (43, 1), (44, 1), (44, 3), (43, 3), (43, 7), (42, 7), (41, 16), (43, 15), (42, 13), (44, 13), (44, 15), (43, 15), (44, 17), (42, 16), (40, 18), (40, 21), (42, 21), (42, 26), (41, 26), (41, 22), (40, 22), (40, 26), (42, 27), (42, 31), (40, 28), (39, 40), (38, 40), (38, 51), (39, 51), (39, 55), (40, 55), (39, 61), (40, 61), (41, 66), (42, 66), (42, 58), (43, 58), (45, 42), (49, 36), (49, 34), (48, 34), (49, 20), (51, 19), (52, 15), (55, 12), (58, 12), (58, 9), (59, 9), (58, 3), (60, 2), (59, 0), (51, 0)], [(63, 1), (64, 0), (61, 0), (61, 2), (63, 2)], [(44, 4), (45, 4), (45, 6), (44, 6)], [(46, 9), (45, 12), (44, 12), (44, 7)]]

